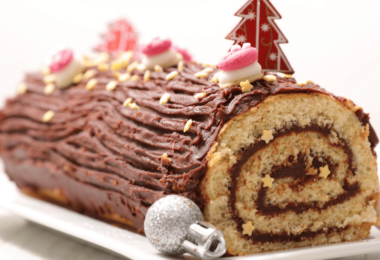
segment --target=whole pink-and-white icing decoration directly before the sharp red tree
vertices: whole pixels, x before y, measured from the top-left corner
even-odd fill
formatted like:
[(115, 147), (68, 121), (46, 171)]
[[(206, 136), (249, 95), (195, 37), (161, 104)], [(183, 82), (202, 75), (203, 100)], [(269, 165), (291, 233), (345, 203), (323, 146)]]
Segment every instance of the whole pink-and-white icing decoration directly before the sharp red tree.
[(257, 62), (257, 51), (250, 44), (244, 44), (231, 47), (231, 51), (223, 56), (218, 63), (219, 72), (218, 80), (220, 88), (228, 88), (239, 85), (240, 82), (248, 80), (253, 82), (263, 77), (261, 66)]

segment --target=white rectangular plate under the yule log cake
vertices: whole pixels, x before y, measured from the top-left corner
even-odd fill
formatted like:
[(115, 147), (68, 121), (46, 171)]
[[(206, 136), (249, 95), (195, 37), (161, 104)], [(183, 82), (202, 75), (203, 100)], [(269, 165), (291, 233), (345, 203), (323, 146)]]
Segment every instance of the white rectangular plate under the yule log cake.
[[(178, 259), (159, 254), (148, 240), (136, 233), (114, 227), (76, 212), (40, 201), (18, 192), (0, 172), (0, 190), (6, 196), (0, 206), (40, 225), (58, 230), (131, 259)], [(225, 260), (317, 260), (380, 252), (380, 231), (375, 227), (368, 239), (359, 242), (315, 246)], [(195, 259), (183, 256), (182, 259)]]

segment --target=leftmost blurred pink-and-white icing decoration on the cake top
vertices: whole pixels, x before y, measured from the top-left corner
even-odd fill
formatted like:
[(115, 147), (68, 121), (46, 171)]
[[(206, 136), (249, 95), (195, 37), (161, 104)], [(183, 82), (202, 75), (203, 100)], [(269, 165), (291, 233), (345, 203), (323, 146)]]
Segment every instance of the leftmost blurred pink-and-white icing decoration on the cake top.
[[(74, 56), (70, 49), (62, 49), (55, 53), (51, 59), (49, 69), (54, 76), (54, 82), (60, 88), (66, 88), (73, 83), (73, 78), (84, 70), (84, 64)], [(51, 82), (46, 82), (51, 83)]]

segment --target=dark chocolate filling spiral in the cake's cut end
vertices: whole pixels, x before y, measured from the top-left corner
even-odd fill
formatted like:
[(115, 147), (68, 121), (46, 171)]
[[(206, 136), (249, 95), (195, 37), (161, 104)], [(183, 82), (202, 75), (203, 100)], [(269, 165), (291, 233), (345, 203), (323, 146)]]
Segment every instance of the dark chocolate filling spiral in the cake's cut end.
[[(291, 128), (286, 129), (285, 131), (280, 131), (277, 134), (273, 135), (274, 140), (279, 137), (287, 136), (291, 133), (302, 133), (302, 132), (316, 132), (319, 134), (322, 134), (327, 138), (330, 131), (332, 129), (332, 126), (325, 126), (320, 127), (316, 125), (315, 123), (312, 123), (311, 125), (307, 127), (299, 127), (299, 126), (293, 126)], [(273, 142), (273, 140), (272, 140)], [(266, 144), (265, 141), (259, 141), (252, 145), (250, 145), (248, 148), (242, 150), (240, 154), (238, 155), (238, 161), (237, 163), (231, 168), (231, 186), (229, 188), (230, 190), (230, 197), (229, 197), (229, 205), (232, 209), (232, 217), (233, 220), (237, 224), (238, 231), (243, 234), (243, 228), (242, 225), (245, 223), (243, 218), (239, 215), (238, 209), (236, 207), (237, 197), (237, 187), (238, 187), (238, 178), (240, 176), (240, 173), (244, 167), (244, 165), (247, 163), (247, 161), (256, 153), (260, 152), (263, 148), (270, 146), (271, 143)], [(347, 155), (348, 161), (347, 162), (339, 162), (339, 163), (347, 163), (347, 173), (351, 173), (352, 175), (355, 175), (355, 167), (352, 163), (352, 151), (347, 142), (339, 138), (339, 144), (332, 144), (332, 146), (339, 146), (341, 150)], [(330, 158), (327, 156), (320, 156), (320, 155), (314, 155), (313, 151), (310, 151), (311, 157), (313, 157), (313, 160), (311, 162), (311, 167), (314, 169), (319, 169), (320, 167), (324, 167), (325, 165), (328, 165), (329, 170), (331, 171), (328, 178), (333, 178), (335, 174), (335, 170), (338, 166), (338, 163), (333, 163)], [(292, 190), (297, 189), (303, 189), (305, 187), (305, 184), (314, 182), (318, 178), (320, 178), (318, 175), (307, 175), (307, 162), (306, 162), (306, 156), (303, 153), (299, 153), (297, 155), (297, 158), (294, 156), (289, 156), (287, 158), (286, 165), (275, 165), (272, 167), (269, 175), (270, 177), (274, 178), (274, 180), (280, 180), (283, 178), (293, 178), (293, 180), (296, 180), (295, 184), (293, 183), (290, 185)], [(264, 178), (264, 176), (261, 176)], [(278, 216), (283, 213), (293, 211), (296, 214), (302, 214), (303, 212), (313, 210), (322, 212), (324, 209), (327, 209), (330, 206), (340, 204), (351, 197), (354, 197), (359, 191), (360, 186), (357, 181), (350, 182), (346, 178), (344, 179), (344, 185), (343, 185), (343, 193), (336, 196), (335, 198), (331, 198), (329, 201), (325, 203), (320, 203), (318, 201), (311, 201), (311, 202), (288, 202), (286, 205), (272, 205), (267, 201), (267, 193), (268, 193), (268, 187), (263, 187), (263, 184), (261, 183), (261, 187), (258, 191), (258, 195), (256, 198), (254, 198), (254, 204), (256, 205), (256, 214), (259, 214), (261, 216), (267, 216), (267, 217), (273, 217)], [(345, 227), (348, 228), (348, 227)], [(292, 234), (292, 233), (264, 233), (260, 232), (258, 230), (254, 230), (252, 232), (252, 235), (242, 235), (245, 239), (250, 239), (253, 244), (255, 243), (264, 243), (264, 242), (288, 242), (288, 241), (302, 241), (306, 238), (313, 238), (317, 236), (318, 234), (328, 234), (331, 232), (341, 231), (344, 228), (328, 228), (318, 231), (309, 231), (304, 230), (301, 234)]]

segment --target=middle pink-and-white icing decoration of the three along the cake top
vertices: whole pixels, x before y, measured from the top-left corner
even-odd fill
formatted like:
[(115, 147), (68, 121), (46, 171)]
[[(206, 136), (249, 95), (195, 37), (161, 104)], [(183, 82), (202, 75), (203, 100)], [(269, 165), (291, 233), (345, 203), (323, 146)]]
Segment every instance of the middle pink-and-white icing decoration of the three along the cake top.
[(163, 68), (177, 65), (182, 60), (182, 55), (173, 50), (170, 39), (155, 37), (148, 44), (143, 45), (141, 52), (144, 54), (141, 63), (148, 69), (159, 65)]

